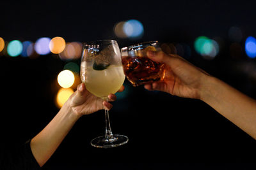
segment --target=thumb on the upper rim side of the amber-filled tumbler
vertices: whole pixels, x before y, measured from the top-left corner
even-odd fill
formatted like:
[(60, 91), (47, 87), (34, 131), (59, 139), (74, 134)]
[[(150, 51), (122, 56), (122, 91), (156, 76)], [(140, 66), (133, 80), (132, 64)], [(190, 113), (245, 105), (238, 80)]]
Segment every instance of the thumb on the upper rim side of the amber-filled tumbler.
[(167, 64), (168, 66), (170, 66), (170, 64), (172, 63), (172, 57), (170, 57), (169, 55), (167, 55), (166, 53), (164, 53), (163, 51), (159, 51), (159, 52), (154, 52), (154, 51), (147, 51), (147, 56), (149, 59), (152, 59), (156, 62), (164, 62), (165, 64)]

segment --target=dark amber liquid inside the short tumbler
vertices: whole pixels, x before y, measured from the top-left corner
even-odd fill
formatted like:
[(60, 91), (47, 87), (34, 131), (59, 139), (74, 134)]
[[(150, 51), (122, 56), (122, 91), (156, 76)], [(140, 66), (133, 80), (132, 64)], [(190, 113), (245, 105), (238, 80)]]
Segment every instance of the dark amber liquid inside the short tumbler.
[(122, 57), (124, 73), (133, 86), (160, 81), (164, 78), (164, 64), (148, 57)]

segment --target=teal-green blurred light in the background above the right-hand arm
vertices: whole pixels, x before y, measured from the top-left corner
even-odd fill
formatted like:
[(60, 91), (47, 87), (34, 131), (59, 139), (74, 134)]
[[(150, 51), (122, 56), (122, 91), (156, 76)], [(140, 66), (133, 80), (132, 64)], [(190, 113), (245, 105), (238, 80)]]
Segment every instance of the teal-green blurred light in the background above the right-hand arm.
[(214, 59), (219, 53), (219, 45), (213, 40), (205, 36), (200, 36), (195, 39), (195, 50), (198, 52), (204, 59)]

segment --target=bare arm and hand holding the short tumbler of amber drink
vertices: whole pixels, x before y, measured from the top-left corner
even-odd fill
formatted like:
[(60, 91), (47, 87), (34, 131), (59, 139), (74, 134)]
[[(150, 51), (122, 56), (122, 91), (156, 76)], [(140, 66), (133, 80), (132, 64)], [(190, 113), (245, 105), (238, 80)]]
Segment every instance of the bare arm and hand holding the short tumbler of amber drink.
[(148, 52), (148, 57), (166, 64), (163, 81), (145, 85), (175, 96), (200, 99), (256, 139), (256, 101), (227, 83), (205, 73), (178, 55)]

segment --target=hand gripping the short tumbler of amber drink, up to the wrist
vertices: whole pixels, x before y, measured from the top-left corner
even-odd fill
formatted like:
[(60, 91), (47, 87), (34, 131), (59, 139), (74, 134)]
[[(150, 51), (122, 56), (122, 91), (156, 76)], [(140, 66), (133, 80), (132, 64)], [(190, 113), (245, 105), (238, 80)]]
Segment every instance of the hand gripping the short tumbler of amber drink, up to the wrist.
[(209, 75), (202, 69), (193, 66), (179, 55), (148, 51), (147, 56), (157, 62), (166, 64), (163, 81), (146, 84), (147, 90), (160, 90), (169, 94), (200, 99), (200, 87), (205, 76)]

